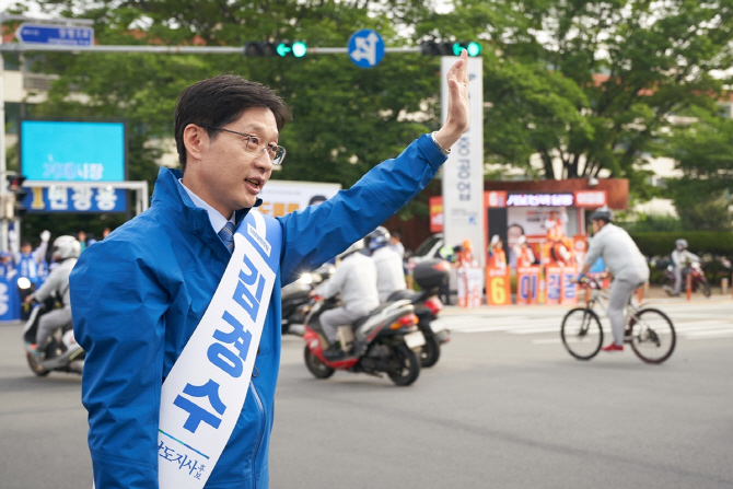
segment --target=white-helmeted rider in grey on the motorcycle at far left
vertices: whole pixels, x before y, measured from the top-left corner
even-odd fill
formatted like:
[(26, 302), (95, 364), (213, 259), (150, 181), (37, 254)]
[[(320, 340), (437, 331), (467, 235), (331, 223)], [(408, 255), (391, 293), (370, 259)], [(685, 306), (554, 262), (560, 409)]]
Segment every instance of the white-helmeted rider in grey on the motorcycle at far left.
[(26, 303), (32, 301), (43, 302), (51, 293), (61, 300), (63, 307), (55, 308), (40, 316), (38, 330), (36, 331), (35, 345), (27, 345), (27, 350), (37, 358), (44, 358), (45, 347), (54, 331), (63, 326), (71, 325), (71, 302), (69, 300), (69, 275), (77, 258), (81, 254), (81, 245), (73, 236), (59, 236), (54, 241), (51, 259), (59, 265), (48, 276), (43, 286), (25, 298)]

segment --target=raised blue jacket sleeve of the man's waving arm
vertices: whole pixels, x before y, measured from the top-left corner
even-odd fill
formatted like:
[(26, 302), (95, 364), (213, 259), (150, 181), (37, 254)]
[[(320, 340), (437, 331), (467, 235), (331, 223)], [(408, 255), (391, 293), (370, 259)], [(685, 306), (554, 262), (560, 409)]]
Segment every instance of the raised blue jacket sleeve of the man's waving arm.
[(429, 135), (369, 171), (351, 188), (319, 206), (278, 218), (283, 230), (280, 272), (283, 284), (317, 268), (374, 231), (418, 195), (446, 158)]

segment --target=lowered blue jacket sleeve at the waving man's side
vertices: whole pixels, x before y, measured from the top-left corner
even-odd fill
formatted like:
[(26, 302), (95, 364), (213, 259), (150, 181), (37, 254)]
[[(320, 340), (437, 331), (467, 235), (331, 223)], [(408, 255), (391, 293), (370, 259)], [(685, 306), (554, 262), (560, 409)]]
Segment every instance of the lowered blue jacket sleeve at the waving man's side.
[(167, 292), (150, 253), (105, 240), (84, 251), (70, 276), (74, 336), (86, 352), (82, 403), (97, 488), (158, 488)]

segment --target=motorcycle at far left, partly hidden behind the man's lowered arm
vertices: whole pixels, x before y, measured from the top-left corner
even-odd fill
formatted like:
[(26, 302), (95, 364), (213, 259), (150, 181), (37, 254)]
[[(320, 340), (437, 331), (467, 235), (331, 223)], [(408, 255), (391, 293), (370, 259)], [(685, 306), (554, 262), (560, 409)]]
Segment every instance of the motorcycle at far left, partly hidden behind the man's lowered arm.
[[(26, 345), (36, 341), (36, 330), (38, 321), (57, 305), (56, 298), (50, 296), (43, 303), (35, 303), (31, 308), (28, 321), (23, 327), (23, 341)], [(69, 324), (60, 330), (54, 331), (50, 341), (44, 348), (45, 357), (36, 357), (30, 351), (25, 351), (25, 359), (28, 362), (31, 371), (38, 376), (46, 376), (53, 371), (72, 372), (81, 374), (84, 370), (84, 350), (73, 338), (73, 328)]]

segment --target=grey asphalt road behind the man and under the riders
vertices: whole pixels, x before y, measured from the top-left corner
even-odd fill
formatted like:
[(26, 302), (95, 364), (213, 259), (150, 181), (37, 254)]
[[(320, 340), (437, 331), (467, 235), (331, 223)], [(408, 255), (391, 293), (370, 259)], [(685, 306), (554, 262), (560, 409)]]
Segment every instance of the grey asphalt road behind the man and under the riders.
[[(409, 387), (318, 381), (288, 336), (270, 487), (731, 488), (733, 301), (658, 305), (679, 330), (662, 365), (571, 359), (567, 307), (449, 307), (452, 341)], [(35, 377), (0, 325), (0, 488), (90, 487), (80, 377)]]

